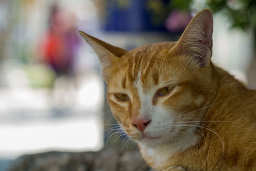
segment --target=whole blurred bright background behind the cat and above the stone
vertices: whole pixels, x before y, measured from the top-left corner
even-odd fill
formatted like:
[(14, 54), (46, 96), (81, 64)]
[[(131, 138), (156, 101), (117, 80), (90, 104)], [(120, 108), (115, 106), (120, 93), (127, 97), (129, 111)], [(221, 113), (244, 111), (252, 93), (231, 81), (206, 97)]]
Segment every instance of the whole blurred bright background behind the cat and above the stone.
[(214, 13), (212, 61), (255, 89), (253, 0), (1, 0), (0, 170), (24, 154), (129, 147), (77, 31), (130, 50), (178, 40), (203, 8)]

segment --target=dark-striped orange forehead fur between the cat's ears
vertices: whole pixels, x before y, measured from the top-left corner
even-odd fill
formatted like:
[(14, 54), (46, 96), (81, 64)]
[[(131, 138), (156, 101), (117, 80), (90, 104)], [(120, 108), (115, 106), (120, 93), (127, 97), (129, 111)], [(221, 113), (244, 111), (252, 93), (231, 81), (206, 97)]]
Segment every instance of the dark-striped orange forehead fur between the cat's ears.
[(147, 84), (148, 80), (158, 84), (163, 59), (168, 57), (174, 45), (175, 42), (154, 43), (134, 48), (125, 54), (123, 64), (124, 67), (127, 66), (127, 77), (122, 80), (123, 87), (125, 87), (127, 80), (131, 84), (136, 84), (138, 79), (143, 85)]

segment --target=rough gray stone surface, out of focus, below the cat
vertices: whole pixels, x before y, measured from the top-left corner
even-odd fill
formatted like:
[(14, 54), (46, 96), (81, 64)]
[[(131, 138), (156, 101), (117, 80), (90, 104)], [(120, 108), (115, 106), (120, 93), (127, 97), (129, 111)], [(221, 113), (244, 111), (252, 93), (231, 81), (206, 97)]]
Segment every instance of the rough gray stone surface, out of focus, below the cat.
[(13, 161), (10, 171), (144, 171), (150, 168), (135, 151), (45, 152)]

